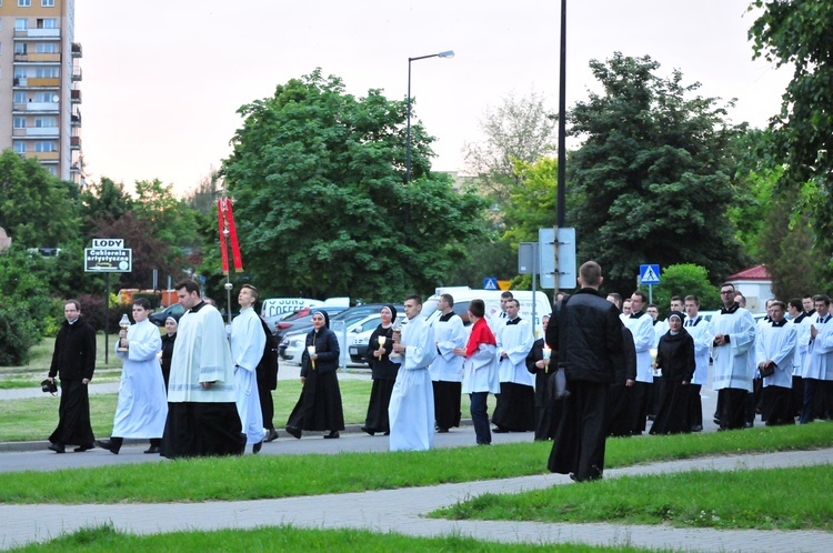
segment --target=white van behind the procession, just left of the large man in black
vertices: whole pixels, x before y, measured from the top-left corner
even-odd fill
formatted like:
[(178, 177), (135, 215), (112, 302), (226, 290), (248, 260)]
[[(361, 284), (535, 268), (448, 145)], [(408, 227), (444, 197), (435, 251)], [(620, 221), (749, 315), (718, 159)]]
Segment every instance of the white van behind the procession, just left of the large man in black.
[[(501, 294), (502, 290), (472, 290), (469, 286), (440, 286), (434, 291), (434, 295), (430, 296), (422, 303), (422, 315), (428, 319), (429, 322), (433, 322), (434, 319), (439, 318), (436, 311), (436, 302), (441, 294), (451, 294), (454, 299), (454, 313), (459, 314), (465, 325), (469, 325), (469, 302), (471, 300), (483, 300), (485, 303), (485, 316), (491, 319), (492, 316), (500, 315), (501, 312)], [(520, 316), (528, 321), (533, 321), (532, 316), (532, 303), (533, 296), (531, 290), (510, 290), (515, 300), (521, 304)], [(534, 295), (535, 303), (535, 338), (543, 338), (543, 325), (541, 319), (544, 315), (552, 313), (552, 304), (545, 293), (540, 290)]]

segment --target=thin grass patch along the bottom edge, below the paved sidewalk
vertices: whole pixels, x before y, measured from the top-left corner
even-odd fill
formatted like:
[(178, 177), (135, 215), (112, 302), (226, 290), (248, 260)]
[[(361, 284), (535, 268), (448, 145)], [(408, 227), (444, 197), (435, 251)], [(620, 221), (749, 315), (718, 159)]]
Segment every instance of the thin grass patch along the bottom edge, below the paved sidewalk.
[(363, 530), (305, 530), (291, 526), (273, 526), (257, 530), (223, 530), (217, 532), (175, 532), (170, 534), (134, 535), (114, 531), (111, 526), (98, 526), (59, 536), (42, 544), (17, 547), (12, 552), (79, 551), (87, 552), (209, 552), (209, 551), (281, 551), (304, 553), (308, 551), (345, 552), (401, 551), (448, 553), (538, 553), (538, 552), (621, 552), (646, 551), (636, 547), (592, 547), (589, 545), (532, 545), (492, 543), (470, 537), (410, 537), (400, 534), (380, 534)]

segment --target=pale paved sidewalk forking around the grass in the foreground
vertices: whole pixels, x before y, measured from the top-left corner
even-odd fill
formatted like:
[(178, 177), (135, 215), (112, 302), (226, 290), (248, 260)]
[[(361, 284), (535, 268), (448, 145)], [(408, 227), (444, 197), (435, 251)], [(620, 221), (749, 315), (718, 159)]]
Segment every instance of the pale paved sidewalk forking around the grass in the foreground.
[[(691, 470), (804, 466), (833, 462), (833, 449), (761, 455), (721, 456), (605, 471), (605, 477)], [(830, 551), (833, 535), (816, 531), (727, 531), (624, 524), (549, 524), (538, 522), (446, 521), (424, 519), (428, 512), (483, 493), (514, 493), (570, 484), (563, 475), (426, 487), (241, 502), (0, 505), (0, 547), (46, 541), (61, 532), (112, 522), (138, 534), (189, 530), (252, 529), (291, 524), (312, 529), (364, 529), (414, 536), (465, 535), (509, 543), (629, 544), (684, 551), (781, 552)]]

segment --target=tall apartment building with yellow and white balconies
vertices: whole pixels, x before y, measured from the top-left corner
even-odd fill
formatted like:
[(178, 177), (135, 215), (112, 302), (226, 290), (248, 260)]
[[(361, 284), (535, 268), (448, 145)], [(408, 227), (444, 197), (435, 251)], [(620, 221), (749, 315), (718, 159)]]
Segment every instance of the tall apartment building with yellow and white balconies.
[(0, 149), (82, 183), (74, 0), (0, 0)]

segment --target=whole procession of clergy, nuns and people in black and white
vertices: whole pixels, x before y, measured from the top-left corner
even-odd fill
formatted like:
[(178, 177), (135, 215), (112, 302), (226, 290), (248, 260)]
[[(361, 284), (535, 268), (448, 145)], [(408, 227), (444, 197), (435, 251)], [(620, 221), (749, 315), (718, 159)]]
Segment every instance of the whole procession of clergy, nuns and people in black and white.
[[(485, 315), (482, 300), (469, 303), (466, 330), (454, 299), (442, 294), (439, 313), (421, 315), (422, 299), (404, 300), (407, 324), (384, 305), (369, 355), (373, 385), (365, 422), (370, 435), (390, 436), (391, 451), (429, 450), (434, 434), (460, 425), (468, 394), (479, 445), (492, 432), (534, 432), (553, 441), (548, 466), (576, 481), (602, 476), (608, 436), (703, 430), (701, 390), (717, 391), (720, 430), (807, 423), (833, 412), (833, 323), (826, 295), (770, 300), (757, 323), (732, 284), (721, 286), (722, 309), (706, 320), (694, 295), (671, 299), (671, 312), (642, 291), (622, 299), (602, 295), (602, 270), (589, 261), (580, 290), (559, 294), (543, 316), (544, 336), (519, 315), (511, 292), (501, 311)], [(145, 453), (167, 458), (258, 453), (278, 438), (272, 423), (273, 385), (263, 376), (269, 331), (254, 312), (258, 291), (239, 291), (240, 315), (227, 331), (219, 311), (201, 299), (193, 281), (177, 284), (185, 313), (165, 321), (165, 334), (148, 320), (150, 304), (137, 299), (136, 324), (122, 330), (117, 354), (124, 360), (112, 435), (96, 441), (87, 384), (94, 370), (96, 340), (76, 300), (56, 340), (49, 379), (61, 379), (59, 425), (49, 449), (63, 453), (98, 445), (119, 453), (123, 440), (147, 439)], [(325, 432), (338, 439), (344, 415), (337, 370), (340, 346), (329, 314), (312, 310), (313, 330), (301, 360), (302, 390), (285, 424), (289, 435)], [(271, 388), (271, 390), (270, 390)], [(489, 394), (496, 396), (491, 416)], [(491, 424), (490, 424), (491, 422)], [(492, 426), (493, 425), (493, 426)]]

